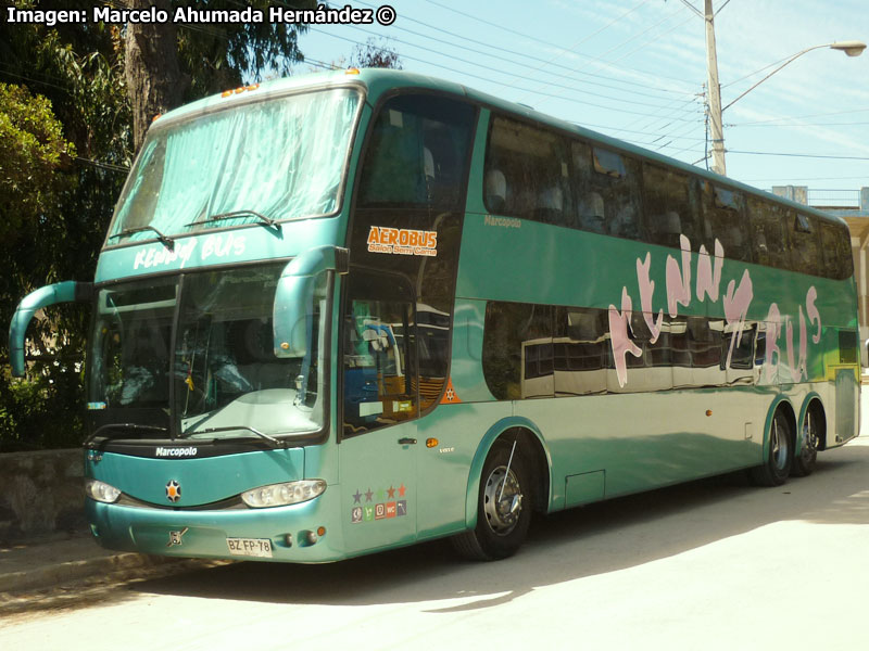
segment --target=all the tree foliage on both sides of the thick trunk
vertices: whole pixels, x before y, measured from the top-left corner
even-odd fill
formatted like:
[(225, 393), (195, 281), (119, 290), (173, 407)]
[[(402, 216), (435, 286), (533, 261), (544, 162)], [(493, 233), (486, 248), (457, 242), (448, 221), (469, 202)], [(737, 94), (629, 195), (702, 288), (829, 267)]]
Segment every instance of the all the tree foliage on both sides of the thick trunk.
[[(135, 7), (173, 10), (193, 0), (126, 0)], [(21, 9), (85, 10), (85, 0), (15, 0)], [(248, 4), (267, 11), (268, 0), (240, 3), (209, 0), (209, 9)], [(315, 0), (284, 0), (298, 9)], [(153, 114), (179, 103), (259, 80), (289, 74), (302, 55), (295, 25), (156, 25), (171, 48), (131, 71), (128, 49), (138, 26), (95, 23), (11, 24), (0, 22), (0, 323), (9, 323), (30, 291), (61, 280), (93, 278), (97, 256), (114, 203), (121, 193), (134, 145), (134, 110), (140, 97), (130, 74), (168, 89), (159, 108), (142, 113), (140, 136)], [(168, 56), (174, 63), (166, 63)], [(133, 97), (130, 97), (133, 95)], [(34, 319), (26, 381), (9, 378), (9, 349), (0, 337), (0, 451), (77, 445), (83, 438), (83, 363), (89, 310), (59, 306)]]

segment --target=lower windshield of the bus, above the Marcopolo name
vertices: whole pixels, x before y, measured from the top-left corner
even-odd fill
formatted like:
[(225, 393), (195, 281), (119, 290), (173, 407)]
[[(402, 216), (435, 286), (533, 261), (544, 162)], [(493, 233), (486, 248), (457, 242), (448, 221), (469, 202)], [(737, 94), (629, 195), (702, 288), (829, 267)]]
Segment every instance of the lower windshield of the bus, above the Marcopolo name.
[(91, 424), (124, 437), (135, 431), (137, 438), (166, 438), (169, 430), (209, 439), (318, 431), (325, 281), (315, 293), (308, 355), (279, 359), (272, 310), (285, 265), (102, 289), (88, 383)]

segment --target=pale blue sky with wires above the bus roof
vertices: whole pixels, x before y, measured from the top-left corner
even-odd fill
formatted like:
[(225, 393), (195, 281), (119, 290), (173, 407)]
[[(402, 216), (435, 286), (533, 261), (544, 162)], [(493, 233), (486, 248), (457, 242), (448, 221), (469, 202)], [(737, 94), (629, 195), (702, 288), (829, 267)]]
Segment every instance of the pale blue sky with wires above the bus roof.
[[(312, 26), (300, 38), (306, 63), (299, 72), (349, 60), (356, 42), (388, 39), (378, 42), (398, 51), (404, 69), (711, 165), (703, 0), (389, 3), (398, 14), (390, 26)], [(713, 7), (722, 106), (803, 50), (869, 42), (869, 0), (713, 0)], [(869, 187), (869, 51), (806, 52), (725, 108), (723, 124), (731, 178), (764, 190), (807, 186), (816, 196)]]

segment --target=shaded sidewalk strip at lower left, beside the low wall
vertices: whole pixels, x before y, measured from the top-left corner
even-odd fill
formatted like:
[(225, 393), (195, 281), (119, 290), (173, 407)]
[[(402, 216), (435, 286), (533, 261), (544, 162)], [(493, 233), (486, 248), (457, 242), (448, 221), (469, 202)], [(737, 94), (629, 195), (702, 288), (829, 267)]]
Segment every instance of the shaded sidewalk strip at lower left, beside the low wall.
[(90, 535), (52, 537), (0, 546), (0, 602), (2, 596), (43, 590), (88, 578), (130, 578), (149, 567), (178, 563), (168, 559), (103, 549)]

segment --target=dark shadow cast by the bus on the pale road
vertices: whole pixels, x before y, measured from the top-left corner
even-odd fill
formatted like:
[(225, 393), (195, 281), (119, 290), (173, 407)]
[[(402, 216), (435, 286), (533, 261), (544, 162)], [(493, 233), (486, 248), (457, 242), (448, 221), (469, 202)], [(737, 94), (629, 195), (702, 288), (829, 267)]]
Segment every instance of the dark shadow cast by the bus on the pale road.
[(776, 523), (869, 524), (867, 467), (869, 446), (848, 446), (822, 456), (811, 476), (776, 488), (732, 473), (538, 518), (521, 550), (496, 563), (461, 561), (449, 542), (433, 541), (325, 565), (239, 562), (129, 590), (276, 604), (418, 603), (432, 613), (492, 608)]

